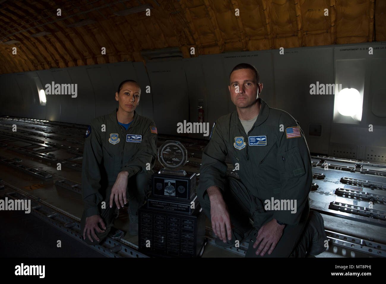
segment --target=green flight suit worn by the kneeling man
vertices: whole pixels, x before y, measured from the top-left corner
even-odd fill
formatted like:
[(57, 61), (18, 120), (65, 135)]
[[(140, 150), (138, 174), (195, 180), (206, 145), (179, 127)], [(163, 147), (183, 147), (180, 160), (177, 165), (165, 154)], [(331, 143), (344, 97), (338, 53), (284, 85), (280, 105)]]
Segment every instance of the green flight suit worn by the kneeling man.
[[(235, 237), (241, 240), (247, 232), (249, 218), (254, 230), (249, 235), (247, 257), (256, 257), (259, 228), (275, 218), (286, 224), (283, 235), (271, 255), (298, 256), (293, 253), (305, 228), (309, 211), (308, 194), (312, 184), (310, 152), (296, 120), (283, 110), (271, 108), (259, 98), (261, 108), (252, 129), (245, 133), (237, 111), (220, 117), (205, 147), (200, 168), (197, 195), (210, 218), (207, 189), (218, 186), (230, 213)], [(225, 157), (229, 155), (239, 179), (227, 177)], [(236, 164), (237, 163), (237, 164)], [(237, 166), (238, 165), (238, 166)], [(296, 200), (296, 213), (291, 210), (265, 208), (266, 200)], [(292, 210), (294, 212), (295, 210)], [(249, 241), (248, 240), (248, 241)]]

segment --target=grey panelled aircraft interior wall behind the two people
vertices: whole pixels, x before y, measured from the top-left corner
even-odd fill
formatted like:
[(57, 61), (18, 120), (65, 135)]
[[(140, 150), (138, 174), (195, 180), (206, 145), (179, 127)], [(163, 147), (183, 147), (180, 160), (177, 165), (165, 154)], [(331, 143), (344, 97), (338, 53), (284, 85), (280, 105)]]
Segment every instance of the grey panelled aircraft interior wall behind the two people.
[[(370, 46), (379, 47), (371, 56)], [(200, 104), (210, 129), (218, 117), (235, 110), (228, 91), (229, 73), (236, 64), (245, 62), (260, 73), (261, 98), (298, 120), (310, 152), (385, 162), (384, 47), (383, 42), (300, 47), (285, 49), (284, 54), (264, 50), (158, 59), (147, 61), (146, 67), (142, 62), (122, 62), (3, 74), (0, 112), (88, 124), (117, 106), (114, 96), (121, 81), (134, 79), (142, 88), (137, 112), (152, 118), (159, 133), (209, 139), (203, 134), (178, 134), (177, 123), (198, 122)], [(40, 105), (37, 89), (52, 81), (78, 84), (77, 97), (46, 95), (47, 104)], [(361, 121), (334, 122), (334, 95), (310, 94), (310, 84), (317, 82), (356, 88), (363, 98)], [(150, 93), (146, 93), (146, 86), (150, 86)], [(313, 127), (321, 127), (320, 136), (310, 135)]]

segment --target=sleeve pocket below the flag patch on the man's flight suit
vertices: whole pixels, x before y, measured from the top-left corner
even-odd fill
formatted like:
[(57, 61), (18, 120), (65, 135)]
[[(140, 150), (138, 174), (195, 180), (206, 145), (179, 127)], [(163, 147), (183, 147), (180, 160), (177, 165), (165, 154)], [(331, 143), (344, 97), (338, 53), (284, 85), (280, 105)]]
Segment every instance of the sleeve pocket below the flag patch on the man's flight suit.
[(287, 177), (300, 177), (306, 173), (298, 147), (286, 150), (285, 152), (280, 153), (280, 156), (284, 173)]

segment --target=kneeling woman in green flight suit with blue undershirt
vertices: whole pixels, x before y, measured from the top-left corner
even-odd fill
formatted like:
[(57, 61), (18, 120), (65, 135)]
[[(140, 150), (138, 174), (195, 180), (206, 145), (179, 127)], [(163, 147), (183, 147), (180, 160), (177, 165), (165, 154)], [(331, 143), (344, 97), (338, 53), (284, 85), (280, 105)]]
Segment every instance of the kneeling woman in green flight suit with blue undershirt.
[(137, 211), (149, 193), (157, 150), (155, 123), (135, 112), (140, 95), (135, 81), (123, 81), (115, 93), (119, 108), (94, 118), (87, 129), (81, 232), (88, 244), (95, 245), (107, 236), (126, 197), (130, 197), (129, 234), (138, 235)]

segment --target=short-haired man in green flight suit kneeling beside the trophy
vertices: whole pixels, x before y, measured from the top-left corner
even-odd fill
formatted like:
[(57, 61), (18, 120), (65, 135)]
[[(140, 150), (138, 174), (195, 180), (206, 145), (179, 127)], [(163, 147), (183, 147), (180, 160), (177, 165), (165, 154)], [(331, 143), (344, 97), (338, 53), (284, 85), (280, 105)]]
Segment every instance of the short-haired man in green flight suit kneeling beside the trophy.
[[(327, 235), (322, 216), (308, 214), (312, 163), (303, 131), (291, 115), (259, 98), (261, 91), (254, 66), (235, 66), (229, 92), (237, 110), (213, 125), (200, 168), (200, 204), (216, 243), (246, 240), (246, 257), (320, 254)], [(227, 155), (239, 179), (227, 177)]]

